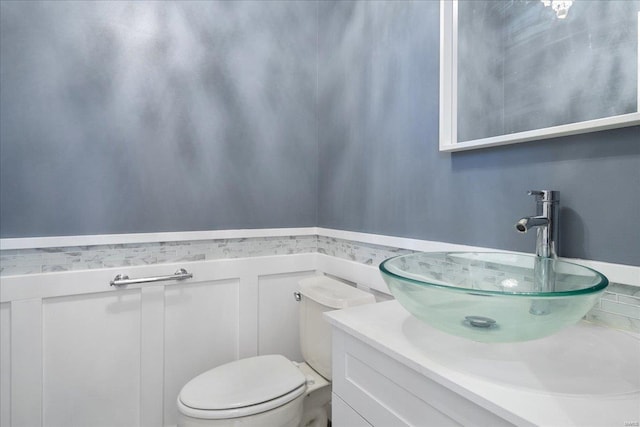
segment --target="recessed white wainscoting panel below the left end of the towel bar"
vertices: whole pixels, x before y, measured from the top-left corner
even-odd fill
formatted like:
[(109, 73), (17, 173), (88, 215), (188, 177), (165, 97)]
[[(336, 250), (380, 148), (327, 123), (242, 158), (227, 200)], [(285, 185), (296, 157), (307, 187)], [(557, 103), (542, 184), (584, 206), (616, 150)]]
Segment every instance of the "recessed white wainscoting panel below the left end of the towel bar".
[(140, 289), (43, 301), (43, 424), (140, 418)]

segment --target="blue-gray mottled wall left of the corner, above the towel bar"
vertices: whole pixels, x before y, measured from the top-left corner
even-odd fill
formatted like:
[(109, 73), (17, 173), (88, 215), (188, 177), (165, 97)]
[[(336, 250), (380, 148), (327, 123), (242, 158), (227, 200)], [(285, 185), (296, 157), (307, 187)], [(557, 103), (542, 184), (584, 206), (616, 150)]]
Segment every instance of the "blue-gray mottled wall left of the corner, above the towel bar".
[(316, 224), (315, 3), (0, 7), (2, 237)]

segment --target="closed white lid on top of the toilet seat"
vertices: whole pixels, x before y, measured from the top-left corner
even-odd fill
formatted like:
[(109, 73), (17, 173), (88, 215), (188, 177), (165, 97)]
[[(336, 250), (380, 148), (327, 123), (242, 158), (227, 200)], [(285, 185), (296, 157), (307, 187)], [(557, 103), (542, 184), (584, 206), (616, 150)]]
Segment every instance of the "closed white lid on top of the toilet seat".
[(243, 408), (283, 396), (305, 381), (304, 374), (284, 356), (250, 357), (198, 375), (182, 388), (179, 399), (193, 409)]

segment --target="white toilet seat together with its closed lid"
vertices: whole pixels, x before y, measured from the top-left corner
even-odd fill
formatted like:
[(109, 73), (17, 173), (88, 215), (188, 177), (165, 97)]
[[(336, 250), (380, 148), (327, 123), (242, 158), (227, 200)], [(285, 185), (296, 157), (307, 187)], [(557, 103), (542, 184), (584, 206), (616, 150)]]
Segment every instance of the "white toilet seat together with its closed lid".
[(230, 362), (189, 381), (178, 396), (185, 415), (238, 418), (269, 411), (302, 396), (304, 374), (286, 357), (267, 355)]

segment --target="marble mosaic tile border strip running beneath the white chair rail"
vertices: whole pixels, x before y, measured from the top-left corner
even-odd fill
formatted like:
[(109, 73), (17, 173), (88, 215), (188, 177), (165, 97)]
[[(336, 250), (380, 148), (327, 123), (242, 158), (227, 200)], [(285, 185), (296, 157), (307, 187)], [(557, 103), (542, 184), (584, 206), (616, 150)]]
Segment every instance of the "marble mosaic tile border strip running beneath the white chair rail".
[[(0, 277), (301, 253), (320, 253), (377, 266), (387, 258), (412, 252), (415, 251), (321, 235), (17, 249), (0, 251)], [(640, 333), (640, 287), (611, 283), (585, 319)]]

